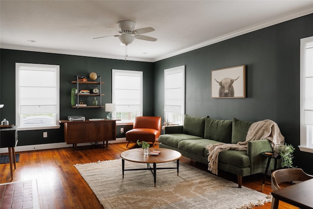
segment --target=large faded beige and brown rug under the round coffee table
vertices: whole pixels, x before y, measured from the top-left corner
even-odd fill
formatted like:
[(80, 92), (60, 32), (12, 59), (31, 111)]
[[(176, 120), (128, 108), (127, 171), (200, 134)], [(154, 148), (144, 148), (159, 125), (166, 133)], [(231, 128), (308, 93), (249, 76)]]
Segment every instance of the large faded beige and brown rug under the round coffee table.
[[(176, 169), (156, 171), (156, 187), (149, 170), (125, 171), (122, 161), (111, 160), (74, 165), (105, 209), (248, 209), (271, 197), (236, 183), (179, 163)], [(175, 167), (176, 162), (156, 167)], [(125, 169), (146, 168), (125, 161)]]

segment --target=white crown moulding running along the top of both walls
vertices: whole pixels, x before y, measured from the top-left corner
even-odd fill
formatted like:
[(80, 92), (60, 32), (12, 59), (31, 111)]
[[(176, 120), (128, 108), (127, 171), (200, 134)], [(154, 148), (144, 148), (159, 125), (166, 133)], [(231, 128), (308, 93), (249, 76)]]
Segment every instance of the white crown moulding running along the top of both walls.
[[(190, 46), (187, 48), (184, 48), (182, 50), (178, 50), (169, 54), (164, 54), (155, 58), (134, 58), (134, 57), (127, 57), (127, 60), (129, 61), (141, 61), (141, 62), (156, 62), (162, 59), (166, 59), (169, 57), (173, 57), (188, 51), (192, 51), (204, 46), (209, 46), (218, 42), (222, 42), (224, 40), (234, 38), (236, 36), (240, 36), (249, 32), (253, 32), (262, 28), (266, 28), (269, 26), (272, 26), (274, 24), (283, 23), (286, 21), (290, 21), (292, 19), (296, 19), (305, 15), (309, 15), (313, 13), (313, 8), (305, 8), (301, 10), (293, 11), (287, 15), (283, 15), (281, 17), (273, 18), (271, 20), (254, 24), (251, 26), (248, 26), (246, 28), (233, 31), (231, 33), (225, 34), (223, 36), (219, 36), (213, 39), (210, 39), (208, 41), (199, 43), (194, 46)], [(110, 54), (103, 54), (103, 53), (93, 53), (93, 52), (84, 52), (84, 51), (70, 51), (70, 50), (62, 50), (62, 49), (52, 49), (52, 48), (39, 48), (39, 47), (31, 47), (31, 46), (17, 46), (17, 45), (10, 45), (10, 44), (1, 44), (0, 48), (4, 49), (15, 49), (15, 50), (25, 50), (25, 51), (38, 51), (38, 52), (46, 52), (46, 53), (57, 53), (57, 54), (68, 54), (68, 55), (77, 55), (77, 56), (88, 56), (88, 57), (99, 57), (99, 58), (107, 58), (107, 59), (116, 59), (116, 60), (125, 60), (125, 56), (113, 56)]]

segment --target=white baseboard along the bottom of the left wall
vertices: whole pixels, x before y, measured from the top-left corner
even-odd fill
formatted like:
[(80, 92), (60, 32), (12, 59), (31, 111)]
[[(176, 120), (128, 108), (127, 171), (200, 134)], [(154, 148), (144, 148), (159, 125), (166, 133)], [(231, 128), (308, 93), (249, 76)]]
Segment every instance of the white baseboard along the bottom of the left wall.
[[(114, 141), (109, 141), (109, 144), (112, 143), (123, 143), (126, 142), (126, 138), (118, 138)], [(98, 142), (102, 144), (102, 142)], [(79, 143), (77, 146), (87, 146), (90, 143)], [(64, 147), (72, 147), (72, 144), (67, 144), (66, 142), (60, 143), (49, 143), (49, 144), (34, 144), (34, 145), (24, 145), (24, 146), (16, 146), (15, 152), (23, 152), (23, 151), (31, 151), (31, 150), (43, 150), (43, 149), (55, 149), (55, 148), (64, 148)], [(8, 153), (8, 148), (0, 148), (0, 153)]]

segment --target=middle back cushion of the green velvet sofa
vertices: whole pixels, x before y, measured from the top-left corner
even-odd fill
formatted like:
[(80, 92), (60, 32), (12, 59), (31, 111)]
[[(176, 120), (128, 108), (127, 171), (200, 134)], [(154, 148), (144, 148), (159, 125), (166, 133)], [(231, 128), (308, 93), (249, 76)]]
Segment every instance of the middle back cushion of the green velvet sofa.
[(232, 120), (219, 120), (210, 117), (205, 118), (204, 139), (231, 142)]

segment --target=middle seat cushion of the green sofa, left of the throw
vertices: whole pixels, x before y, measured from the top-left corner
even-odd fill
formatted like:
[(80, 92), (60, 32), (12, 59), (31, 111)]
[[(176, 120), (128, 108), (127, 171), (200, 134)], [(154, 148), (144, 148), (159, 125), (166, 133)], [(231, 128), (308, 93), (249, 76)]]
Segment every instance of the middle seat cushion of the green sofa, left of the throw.
[(191, 140), (183, 140), (179, 141), (178, 148), (180, 150), (184, 150), (186, 152), (190, 152), (196, 155), (205, 156), (205, 145), (221, 143), (219, 141), (214, 141), (210, 139), (191, 139)]

